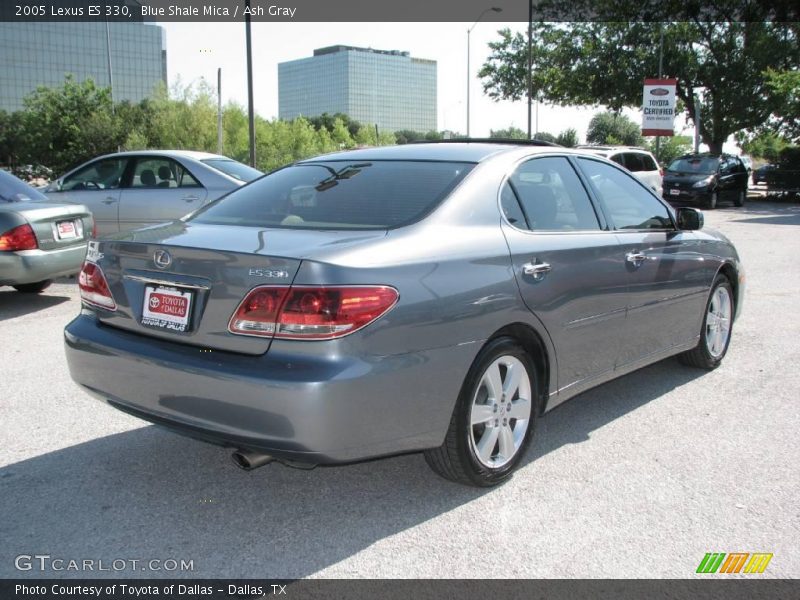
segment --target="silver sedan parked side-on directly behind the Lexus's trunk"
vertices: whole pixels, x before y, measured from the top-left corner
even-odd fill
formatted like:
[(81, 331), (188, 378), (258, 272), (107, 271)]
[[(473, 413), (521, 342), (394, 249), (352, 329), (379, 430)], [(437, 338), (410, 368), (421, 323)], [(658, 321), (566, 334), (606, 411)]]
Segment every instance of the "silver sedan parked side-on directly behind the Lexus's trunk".
[(263, 175), (218, 154), (188, 150), (120, 152), (59, 177), (45, 194), (85, 204), (99, 235), (178, 219)]

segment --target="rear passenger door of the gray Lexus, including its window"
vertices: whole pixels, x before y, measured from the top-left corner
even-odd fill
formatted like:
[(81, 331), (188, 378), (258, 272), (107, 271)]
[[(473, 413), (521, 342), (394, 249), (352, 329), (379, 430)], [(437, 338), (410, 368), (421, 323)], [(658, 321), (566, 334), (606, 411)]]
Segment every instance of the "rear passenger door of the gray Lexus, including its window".
[(619, 352), (627, 297), (619, 242), (563, 156), (521, 163), (501, 206), (520, 293), (556, 348), (558, 388), (588, 387)]

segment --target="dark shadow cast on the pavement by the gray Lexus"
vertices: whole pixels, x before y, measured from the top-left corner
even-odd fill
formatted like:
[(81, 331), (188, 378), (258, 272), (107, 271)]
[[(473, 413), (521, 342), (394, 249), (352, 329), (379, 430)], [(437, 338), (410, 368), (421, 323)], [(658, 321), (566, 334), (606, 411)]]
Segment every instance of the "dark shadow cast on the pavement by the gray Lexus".
[[(525, 462), (702, 374), (667, 360), (586, 392), (541, 419)], [(87, 418), (95, 410), (111, 409), (87, 404)], [(244, 472), (227, 450), (155, 426), (0, 468), (0, 490), (2, 577), (304, 577), (492, 493), (440, 479), (419, 454)], [(107, 565), (183, 559), (194, 570), (14, 569), (15, 556), (35, 553)]]

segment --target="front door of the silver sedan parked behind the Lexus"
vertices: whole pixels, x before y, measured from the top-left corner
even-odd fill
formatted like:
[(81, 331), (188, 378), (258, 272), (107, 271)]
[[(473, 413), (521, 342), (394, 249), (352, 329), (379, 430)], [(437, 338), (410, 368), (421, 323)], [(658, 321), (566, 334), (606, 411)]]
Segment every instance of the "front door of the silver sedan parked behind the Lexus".
[(119, 231), (120, 184), (127, 158), (103, 158), (67, 174), (48, 188), (56, 202), (84, 204), (92, 212), (98, 235)]

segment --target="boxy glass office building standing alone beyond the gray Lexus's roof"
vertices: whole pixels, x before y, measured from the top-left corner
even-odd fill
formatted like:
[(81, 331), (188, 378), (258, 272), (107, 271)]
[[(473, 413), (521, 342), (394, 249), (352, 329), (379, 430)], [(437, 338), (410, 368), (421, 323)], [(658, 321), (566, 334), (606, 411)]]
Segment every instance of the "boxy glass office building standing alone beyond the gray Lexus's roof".
[(344, 113), (384, 131), (435, 131), (436, 61), (397, 50), (330, 46), (280, 63), (280, 118), (322, 113)]

